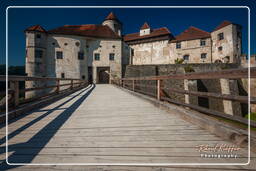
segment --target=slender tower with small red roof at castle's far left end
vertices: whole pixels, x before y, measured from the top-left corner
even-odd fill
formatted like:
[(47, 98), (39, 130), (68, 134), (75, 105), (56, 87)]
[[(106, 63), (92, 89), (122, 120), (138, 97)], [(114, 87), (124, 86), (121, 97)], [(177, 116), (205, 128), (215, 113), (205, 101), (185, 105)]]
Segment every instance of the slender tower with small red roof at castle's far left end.
[[(29, 77), (46, 76), (46, 31), (40, 26), (35, 25), (25, 30), (26, 35), (26, 64), (25, 70)], [(40, 81), (27, 81), (26, 88), (43, 86), (45, 83)], [(26, 98), (40, 94), (40, 91), (26, 92)]]

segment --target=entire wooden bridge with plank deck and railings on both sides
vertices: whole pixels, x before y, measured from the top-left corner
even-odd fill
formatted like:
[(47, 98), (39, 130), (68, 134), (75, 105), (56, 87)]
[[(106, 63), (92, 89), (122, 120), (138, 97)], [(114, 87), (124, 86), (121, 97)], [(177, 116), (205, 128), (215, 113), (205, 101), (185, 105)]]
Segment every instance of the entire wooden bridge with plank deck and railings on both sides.
[[(246, 75), (246, 70), (226, 70), (211, 73), (211, 78), (237, 79), (245, 78)], [(251, 76), (255, 78), (255, 69), (251, 71)], [(56, 91), (48, 96), (37, 97), (36, 101), (27, 100), (21, 103), (17, 100), (19, 81), (42, 81), (50, 78), (9, 77), (13, 86), (8, 93), (12, 94), (13, 98), (9, 106), (11, 110), (8, 118), (8, 137), (5, 134), (5, 125), (2, 124), (0, 128), (0, 160), (2, 161), (0, 166), (3, 170), (255, 169), (255, 153), (251, 151), (250, 164), (246, 165), (249, 157), (247, 145), (240, 142), (241, 146), (238, 147), (235, 144), (240, 140), (247, 142), (246, 128), (238, 129), (235, 126), (232, 127), (232, 124), (229, 125), (229, 122), (216, 119), (223, 115), (223, 119), (245, 124), (244, 118), (186, 103), (175, 103), (164, 92), (169, 88), (173, 92), (183, 94), (246, 102), (247, 97), (243, 96), (191, 92), (163, 85), (165, 79), (208, 78), (209, 73), (194, 73), (126, 78), (113, 80), (113, 84), (102, 85), (87, 85), (82, 80), (76, 80), (77, 83), (72, 80), (69, 84), (63, 84), (68, 88), (62, 93), (61, 79), (55, 79), (57, 80), (55, 86), (37, 87), (24, 91), (54, 87)], [(1, 77), (1, 79), (4, 78)], [(145, 81), (155, 82), (155, 86)], [(151, 87), (153, 90), (146, 91), (148, 89), (143, 89), (143, 86)], [(255, 103), (254, 97), (251, 97), (251, 102)], [(200, 122), (196, 121), (198, 116), (201, 118)], [(204, 121), (212, 122), (208, 123), (209, 129), (207, 124), (206, 126), (203, 124)], [(219, 125), (215, 124), (215, 128), (213, 123), (218, 122)], [(254, 124), (252, 122), (252, 126)], [(235, 134), (232, 128), (240, 132)], [(216, 132), (218, 129), (225, 130), (218, 133)], [(226, 138), (221, 136), (223, 133), (226, 133)], [(8, 138), (8, 144), (6, 138)], [(8, 145), (7, 155), (5, 155), (6, 145)], [(228, 152), (227, 147), (232, 151)], [(213, 149), (215, 151), (212, 151)], [(10, 165), (5, 162), (6, 156)], [(24, 164), (46, 166), (21, 166)], [(67, 164), (76, 166), (56, 166)], [(82, 166), (86, 164), (102, 166)], [(125, 164), (131, 166), (120, 166)], [(193, 166), (190, 166), (191, 164)], [(151, 165), (151, 167), (143, 165)], [(152, 165), (158, 165), (158, 167)]]

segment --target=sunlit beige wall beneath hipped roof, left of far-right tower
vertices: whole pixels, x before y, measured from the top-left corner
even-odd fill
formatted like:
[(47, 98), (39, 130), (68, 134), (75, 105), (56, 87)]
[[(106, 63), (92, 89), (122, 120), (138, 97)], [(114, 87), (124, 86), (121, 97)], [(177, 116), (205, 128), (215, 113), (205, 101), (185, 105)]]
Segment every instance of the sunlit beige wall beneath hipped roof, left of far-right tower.
[[(170, 43), (170, 63), (174, 64), (177, 58), (183, 59), (184, 55), (189, 55), (186, 63), (211, 63), (211, 39), (205, 39), (205, 46), (200, 46), (200, 40), (182, 41), (180, 49), (176, 49), (176, 43)], [(205, 59), (201, 59), (202, 53), (207, 54)]]

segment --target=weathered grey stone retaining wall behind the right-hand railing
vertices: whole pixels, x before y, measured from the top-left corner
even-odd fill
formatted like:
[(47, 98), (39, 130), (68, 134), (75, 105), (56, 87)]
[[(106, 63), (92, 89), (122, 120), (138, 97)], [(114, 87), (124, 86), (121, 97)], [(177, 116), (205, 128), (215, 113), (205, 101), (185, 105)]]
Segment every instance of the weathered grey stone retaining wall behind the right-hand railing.
[[(188, 67), (189, 66), (189, 67)], [(186, 73), (189, 69), (195, 72), (217, 71), (223, 69), (237, 68), (238, 64), (169, 64), (169, 65), (128, 65), (126, 67), (125, 77), (142, 77), (142, 76), (155, 76), (155, 75), (169, 75)], [(238, 90), (241, 88), (238, 84), (241, 80), (220, 80), (220, 79), (206, 79), (206, 80), (190, 80), (187, 83), (184, 80), (165, 80), (164, 86), (172, 87), (175, 89), (187, 89), (190, 91), (202, 91), (213, 93), (230, 93), (242, 95)], [(156, 86), (156, 82), (147, 83), (147, 85)], [(142, 90), (143, 87), (139, 87)], [(146, 91), (150, 91), (146, 89)], [(151, 90), (151, 93), (156, 93)], [(171, 99), (177, 100), (182, 103), (190, 103), (207, 107), (209, 109), (217, 110), (232, 115), (244, 115), (247, 111), (242, 110), (242, 104), (237, 102), (223, 101), (214, 98), (202, 98), (197, 96), (188, 96), (184, 94), (167, 92)], [(244, 104), (243, 104), (244, 105)]]

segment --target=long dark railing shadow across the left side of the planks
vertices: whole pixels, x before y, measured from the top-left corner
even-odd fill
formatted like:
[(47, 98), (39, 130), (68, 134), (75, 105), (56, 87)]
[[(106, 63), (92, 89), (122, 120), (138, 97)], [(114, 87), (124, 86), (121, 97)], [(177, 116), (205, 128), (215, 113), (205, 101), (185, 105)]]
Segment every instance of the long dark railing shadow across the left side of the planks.
[[(20, 144), (14, 144), (14, 145), (9, 145), (8, 146), (8, 152), (13, 152), (9, 157), (7, 162), (10, 164), (15, 164), (15, 165), (8, 165), (6, 162), (3, 162), (1, 164), (2, 170), (8, 170), (12, 168), (19, 167), (19, 165), (26, 164), (26, 163), (31, 163), (32, 160), (36, 157), (36, 155), (44, 148), (44, 146), (51, 140), (51, 138), (56, 134), (56, 132), (60, 129), (60, 127), (69, 119), (69, 117), (73, 114), (73, 112), (83, 103), (83, 101), (91, 94), (93, 89), (95, 88), (95, 85), (91, 85), (84, 89), (83, 91), (79, 92), (75, 96), (71, 96), (70, 99), (67, 101), (61, 103), (60, 105), (54, 107), (53, 109), (47, 110), (47, 112), (38, 118), (32, 120), (31, 122), (23, 125), (16, 131), (10, 133), (8, 135), (8, 140), (11, 138), (15, 137), (16, 135), (20, 134), (22, 131), (25, 129), (31, 127), (35, 123), (39, 122), (46, 116), (50, 115), (53, 111), (59, 110), (61, 106), (67, 104), (71, 100), (73, 100), (76, 97), (81, 96), (78, 100), (76, 100), (71, 106), (66, 108), (61, 114), (59, 114), (54, 120), (52, 120), (50, 123), (48, 123), (45, 127), (43, 127), (39, 132), (37, 132), (31, 139), (29, 139), (25, 143), (20, 143)], [(83, 94), (86, 92), (85, 94)], [(62, 108), (63, 109), (63, 108)], [(38, 110), (37, 110), (38, 111)], [(48, 131), (51, 130), (51, 131)], [(43, 134), (47, 132), (47, 136), (44, 136), (43, 139), (38, 140), (39, 137), (41, 137)], [(5, 143), (6, 137), (3, 137), (0, 139), (1, 144)], [(36, 147), (33, 148), (33, 145), (35, 145), (36, 142)], [(29, 150), (31, 152), (30, 155), (27, 155), (26, 157), (20, 157), (24, 152)], [(1, 148), (0, 153), (5, 153), (5, 148)]]

